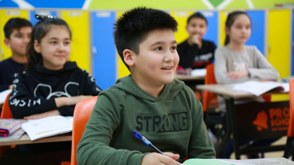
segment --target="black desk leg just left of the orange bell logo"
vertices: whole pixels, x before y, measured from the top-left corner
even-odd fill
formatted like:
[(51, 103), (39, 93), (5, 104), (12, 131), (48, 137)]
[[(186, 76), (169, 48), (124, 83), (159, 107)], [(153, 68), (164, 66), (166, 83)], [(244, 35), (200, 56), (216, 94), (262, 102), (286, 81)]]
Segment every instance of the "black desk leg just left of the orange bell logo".
[(237, 121), (236, 121), (236, 110), (235, 110), (235, 105), (234, 105), (234, 99), (229, 98), (225, 100), (225, 106), (227, 109), (227, 120), (229, 120), (229, 127), (232, 130), (232, 135), (233, 135), (233, 146), (234, 146), (234, 151), (235, 151), (235, 156), (236, 159), (240, 159), (240, 150), (239, 150), (239, 135), (238, 135), (238, 126), (237, 126)]

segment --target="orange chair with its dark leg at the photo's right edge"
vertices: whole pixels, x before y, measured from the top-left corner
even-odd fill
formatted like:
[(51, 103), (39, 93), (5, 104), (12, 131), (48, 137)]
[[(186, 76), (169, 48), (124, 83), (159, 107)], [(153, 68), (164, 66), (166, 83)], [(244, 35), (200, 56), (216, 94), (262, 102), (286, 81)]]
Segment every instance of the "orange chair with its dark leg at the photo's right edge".
[[(289, 104), (290, 104), (290, 121), (287, 133), (287, 142), (284, 152), (284, 158), (289, 157), (289, 150), (292, 150), (292, 160), (294, 160), (294, 145), (293, 145), (293, 133), (294, 133), (294, 78), (289, 81), (290, 91), (289, 91)], [(292, 146), (291, 146), (292, 145)]]

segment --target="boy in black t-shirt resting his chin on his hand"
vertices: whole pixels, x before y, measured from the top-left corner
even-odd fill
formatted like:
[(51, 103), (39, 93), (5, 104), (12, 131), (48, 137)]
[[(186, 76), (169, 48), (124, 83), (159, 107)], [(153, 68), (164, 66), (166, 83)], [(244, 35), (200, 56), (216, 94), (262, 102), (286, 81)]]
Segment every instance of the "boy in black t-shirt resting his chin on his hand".
[(188, 18), (186, 30), (189, 38), (177, 46), (180, 57), (179, 68), (205, 68), (212, 63), (216, 45), (203, 40), (207, 32), (207, 20), (199, 12)]

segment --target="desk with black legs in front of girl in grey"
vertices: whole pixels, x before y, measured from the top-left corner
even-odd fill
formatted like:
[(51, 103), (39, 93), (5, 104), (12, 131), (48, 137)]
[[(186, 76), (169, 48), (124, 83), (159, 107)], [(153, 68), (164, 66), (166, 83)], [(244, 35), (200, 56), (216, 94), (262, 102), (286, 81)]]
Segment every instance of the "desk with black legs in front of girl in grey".
[[(196, 86), (197, 90), (207, 90), (208, 92), (212, 92), (218, 95), (221, 95), (225, 98), (225, 105), (226, 105), (226, 113), (227, 113), (227, 127), (225, 131), (225, 136), (222, 139), (222, 142), (218, 147), (216, 147), (216, 154), (219, 156), (224, 148), (225, 145), (228, 143), (230, 140), (231, 135), (233, 136), (233, 144), (234, 144), (234, 151), (235, 151), (235, 156), (236, 159), (240, 159), (240, 154), (244, 154), (245, 152), (256, 152), (257, 149), (240, 149), (239, 147), (239, 127), (238, 127), (238, 122), (237, 122), (237, 115), (236, 115), (236, 106), (234, 104), (235, 99), (240, 99), (240, 98), (253, 98), (256, 97), (255, 95), (238, 91), (238, 90), (233, 90), (232, 85), (221, 85), (221, 84), (215, 84), (215, 85), (197, 85)], [(272, 95), (272, 94), (284, 94), (285, 92), (267, 92), (264, 95)], [(263, 103), (258, 103), (258, 104), (263, 104)], [(269, 103), (264, 103), (264, 104), (269, 104)], [(248, 113), (250, 111), (248, 110)], [(241, 132), (241, 131), (240, 131)], [(275, 146), (275, 147), (267, 147), (266, 151), (280, 151), (283, 150), (285, 145), (283, 146)], [(263, 147), (265, 148), (265, 147)]]

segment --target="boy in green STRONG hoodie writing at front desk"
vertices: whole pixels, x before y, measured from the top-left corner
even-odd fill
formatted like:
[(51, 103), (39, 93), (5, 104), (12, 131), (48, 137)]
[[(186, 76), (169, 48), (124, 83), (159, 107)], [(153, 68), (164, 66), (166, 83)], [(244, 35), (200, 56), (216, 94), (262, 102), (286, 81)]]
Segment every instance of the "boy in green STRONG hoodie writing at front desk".
[[(173, 78), (177, 26), (168, 13), (145, 7), (116, 21), (116, 49), (131, 74), (100, 92), (77, 146), (78, 164), (179, 165), (186, 157), (215, 158), (201, 103)], [(136, 139), (134, 130), (164, 155)]]

